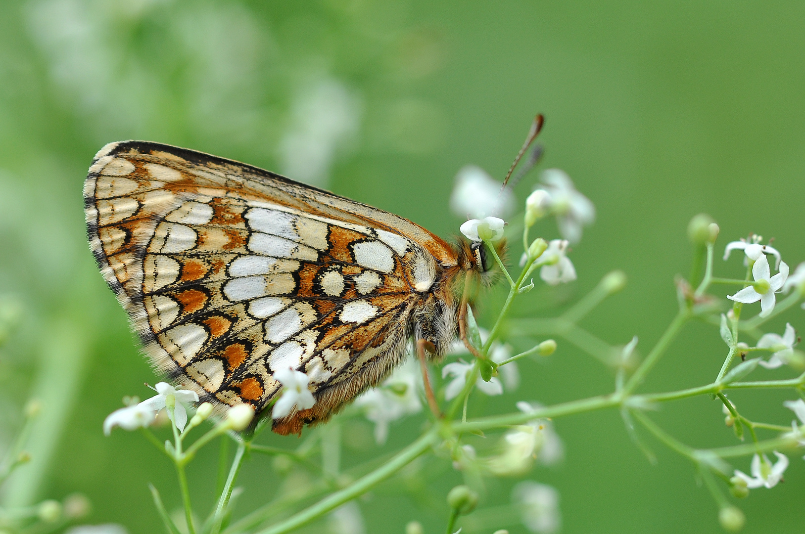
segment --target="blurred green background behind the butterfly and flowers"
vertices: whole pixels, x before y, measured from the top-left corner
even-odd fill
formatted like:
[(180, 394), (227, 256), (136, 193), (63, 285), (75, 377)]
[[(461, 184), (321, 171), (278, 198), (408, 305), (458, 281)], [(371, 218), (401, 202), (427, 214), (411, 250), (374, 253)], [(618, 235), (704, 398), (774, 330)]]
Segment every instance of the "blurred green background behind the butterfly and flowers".
[[(148, 482), (169, 508), (180, 504), (166, 458), (138, 434), (101, 433), (123, 395), (147, 396), (142, 383), (158, 380), (85, 243), (81, 183), (106, 142), (149, 139), (235, 158), (451, 236), (461, 222), (447, 209), (456, 171), (475, 163), (502, 176), (533, 114), (545, 113), (543, 167), (567, 170), (598, 212), (573, 250), (579, 281), (564, 298), (625, 270), (627, 289), (584, 326), (613, 344), (638, 335), (645, 355), (675, 314), (673, 278), (687, 273), (685, 227), (696, 213), (719, 222), (719, 250), (758, 232), (774, 236), (792, 269), (805, 260), (803, 45), (802, 2), (2, 2), (0, 297), (17, 326), (0, 352), (0, 445), (31, 396), (44, 402), (38, 431), (55, 440), (32, 444), (35, 461), (4, 499), (81, 491), (94, 506), (88, 522), (132, 534), (162, 530)], [(520, 199), (536, 179), (518, 187)], [(555, 224), (539, 232), (555, 237)], [(723, 276), (742, 275), (737, 258), (717, 261)], [(481, 309), (494, 310), (501, 291)], [(554, 312), (523, 298), (517, 313)], [(795, 308), (788, 320), (803, 327), (801, 314)], [(782, 333), (785, 322), (770, 331)], [(693, 324), (643, 389), (705, 384), (724, 353), (715, 329)], [(476, 413), (613, 384), (568, 343), (520, 369), (519, 391), (479, 402)], [(753, 419), (791, 420), (781, 405), (791, 392), (733, 398)], [(653, 417), (692, 446), (735, 442), (706, 398)], [(393, 425), (379, 450), (368, 424), (349, 423), (345, 465), (397, 450), (423, 421)], [(562, 532), (719, 530), (689, 463), (648, 438), (658, 456), (650, 465), (617, 413), (555, 428), (564, 463), (522, 478), (559, 490)], [(190, 469), (200, 509), (213, 499), (216, 455), (210, 447)], [(424, 465), (405, 483), (426, 486), (418, 499), (396, 482), (360, 501), (367, 532), (403, 532), (414, 519), (443, 532), (444, 494), (460, 475), (444, 460)], [(736, 466), (748, 470), (749, 458)], [(248, 462), (237, 513), (275, 495), (276, 476), (266, 458)], [(491, 482), (483, 505), (508, 502), (514, 482)], [(792, 455), (785, 483), (739, 503), (745, 532), (802, 532), (803, 491), (805, 464)]]

